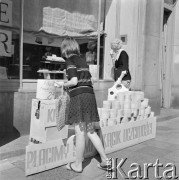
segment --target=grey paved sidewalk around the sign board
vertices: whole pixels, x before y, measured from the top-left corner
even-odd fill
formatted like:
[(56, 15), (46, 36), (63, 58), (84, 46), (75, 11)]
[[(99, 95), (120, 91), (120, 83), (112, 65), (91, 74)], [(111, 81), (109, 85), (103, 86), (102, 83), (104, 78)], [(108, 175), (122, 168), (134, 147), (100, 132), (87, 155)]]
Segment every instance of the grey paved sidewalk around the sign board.
[[(155, 139), (128, 147), (108, 154), (112, 158), (127, 158), (122, 166), (125, 172), (132, 170), (130, 165), (138, 163), (144, 174), (144, 163), (163, 164), (159, 174), (162, 176), (167, 163), (176, 166), (176, 175), (179, 176), (179, 110), (162, 109), (157, 117), (157, 135)], [(22, 136), (0, 147), (0, 179), (1, 180), (104, 180), (106, 172), (97, 168), (99, 156), (88, 158), (83, 163), (83, 173), (75, 173), (60, 166), (45, 172), (25, 177), (25, 146), (28, 145), (29, 136)], [(169, 168), (166, 168), (169, 169)], [(171, 169), (171, 168), (170, 168)], [(136, 173), (134, 173), (136, 175)], [(168, 176), (171, 173), (168, 174)], [(118, 173), (118, 179), (124, 179)], [(156, 179), (154, 168), (149, 168), (149, 179)], [(165, 178), (162, 178), (165, 179)], [(171, 178), (172, 179), (172, 178)], [(173, 178), (174, 179), (174, 178)]]

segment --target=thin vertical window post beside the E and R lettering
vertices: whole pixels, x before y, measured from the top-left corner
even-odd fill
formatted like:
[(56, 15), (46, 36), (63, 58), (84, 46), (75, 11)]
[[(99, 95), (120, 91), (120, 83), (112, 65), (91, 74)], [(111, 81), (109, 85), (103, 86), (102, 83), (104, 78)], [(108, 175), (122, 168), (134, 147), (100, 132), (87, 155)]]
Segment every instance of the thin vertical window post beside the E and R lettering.
[(24, 0), (21, 0), (21, 25), (20, 25), (20, 89), (22, 89), (22, 79), (23, 79), (23, 26), (24, 26)]

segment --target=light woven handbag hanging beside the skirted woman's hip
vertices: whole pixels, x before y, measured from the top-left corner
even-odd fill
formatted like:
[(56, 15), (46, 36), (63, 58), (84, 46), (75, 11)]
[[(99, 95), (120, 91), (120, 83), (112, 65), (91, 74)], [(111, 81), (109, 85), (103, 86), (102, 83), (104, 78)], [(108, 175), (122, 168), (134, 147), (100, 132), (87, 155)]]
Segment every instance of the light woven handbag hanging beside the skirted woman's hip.
[(70, 96), (66, 90), (62, 87), (62, 95), (58, 97), (56, 104), (56, 123), (57, 129), (60, 131), (68, 120), (68, 112), (70, 105)]

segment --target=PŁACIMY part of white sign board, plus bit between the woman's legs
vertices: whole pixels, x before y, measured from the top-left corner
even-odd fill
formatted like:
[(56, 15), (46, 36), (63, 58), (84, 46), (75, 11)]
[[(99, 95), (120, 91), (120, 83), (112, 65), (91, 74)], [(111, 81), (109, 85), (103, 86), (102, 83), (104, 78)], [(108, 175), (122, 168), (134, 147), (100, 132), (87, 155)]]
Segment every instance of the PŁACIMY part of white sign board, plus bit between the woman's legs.
[[(95, 156), (96, 149), (87, 138), (85, 145), (85, 157)], [(26, 146), (26, 175), (42, 172), (58, 167), (76, 159), (75, 135), (64, 143), (61, 139), (42, 144)]]

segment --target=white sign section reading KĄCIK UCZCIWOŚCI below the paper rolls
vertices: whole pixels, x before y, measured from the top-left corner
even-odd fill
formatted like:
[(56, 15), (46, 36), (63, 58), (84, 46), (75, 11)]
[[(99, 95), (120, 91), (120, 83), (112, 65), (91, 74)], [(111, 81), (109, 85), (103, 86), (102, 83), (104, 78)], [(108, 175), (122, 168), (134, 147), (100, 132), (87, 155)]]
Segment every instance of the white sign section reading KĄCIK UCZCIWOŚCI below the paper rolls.
[(156, 117), (115, 126), (106, 126), (101, 128), (101, 131), (105, 152), (108, 154), (155, 138)]

